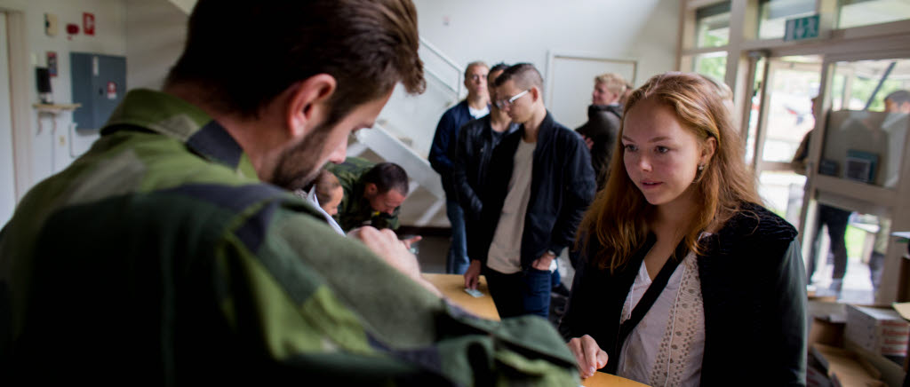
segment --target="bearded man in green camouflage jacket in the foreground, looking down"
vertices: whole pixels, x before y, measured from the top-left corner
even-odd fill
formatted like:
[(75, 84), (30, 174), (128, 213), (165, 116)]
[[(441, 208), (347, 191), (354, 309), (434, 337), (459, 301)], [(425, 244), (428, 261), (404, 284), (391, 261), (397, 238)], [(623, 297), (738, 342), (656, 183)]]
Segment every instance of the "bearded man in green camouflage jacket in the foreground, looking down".
[(0, 231), (3, 384), (577, 385), (548, 323), (462, 312), (389, 230), (342, 237), (286, 191), (422, 90), (416, 18), (198, 1), (164, 93), (127, 94)]

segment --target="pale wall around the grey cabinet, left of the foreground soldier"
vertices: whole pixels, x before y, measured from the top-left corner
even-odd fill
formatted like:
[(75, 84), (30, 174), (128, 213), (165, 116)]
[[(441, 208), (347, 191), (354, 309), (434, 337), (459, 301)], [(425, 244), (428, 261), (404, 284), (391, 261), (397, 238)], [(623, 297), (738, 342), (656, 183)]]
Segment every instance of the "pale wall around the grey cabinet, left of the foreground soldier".
[[(11, 12), (22, 12), (26, 21), (26, 46), (30, 102), (38, 102), (35, 89), (35, 67), (47, 65), (48, 51), (56, 52), (57, 76), (51, 78), (54, 102), (72, 102), (69, 55), (71, 52), (97, 53), (103, 55), (126, 55), (125, 19), (126, 11), (122, 0), (0, 0), (0, 8)], [(85, 35), (82, 29), (82, 14), (95, 14), (95, 35)], [(45, 13), (55, 14), (59, 21), (56, 36), (45, 35)], [(68, 36), (67, 24), (79, 25), (79, 34)], [(31, 117), (32, 131), (32, 182), (37, 183), (47, 176), (59, 172), (72, 163), (75, 156), (82, 154), (97, 138), (96, 133), (70, 130), (72, 114), (63, 113), (56, 119)], [(53, 129), (56, 122), (56, 130)]]

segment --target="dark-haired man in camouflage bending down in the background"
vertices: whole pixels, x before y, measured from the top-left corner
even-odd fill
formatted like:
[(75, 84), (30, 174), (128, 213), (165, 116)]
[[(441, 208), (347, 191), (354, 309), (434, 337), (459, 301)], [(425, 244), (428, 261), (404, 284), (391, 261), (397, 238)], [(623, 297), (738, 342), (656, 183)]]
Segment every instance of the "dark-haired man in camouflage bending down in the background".
[(399, 228), (401, 203), (408, 196), (408, 173), (398, 164), (373, 164), (359, 157), (326, 167), (339, 178), (344, 198), (336, 219), (349, 232), (364, 225)]

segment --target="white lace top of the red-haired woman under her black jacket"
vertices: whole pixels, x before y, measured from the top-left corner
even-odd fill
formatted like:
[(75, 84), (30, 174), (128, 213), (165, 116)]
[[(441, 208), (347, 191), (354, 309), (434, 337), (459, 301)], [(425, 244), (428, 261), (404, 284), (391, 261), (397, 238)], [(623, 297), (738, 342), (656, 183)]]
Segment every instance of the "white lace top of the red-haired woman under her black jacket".
[[(704, 303), (694, 253), (683, 258), (651, 309), (622, 345), (617, 374), (658, 386), (697, 386), (702, 377)], [(642, 267), (622, 306), (621, 322), (651, 286)]]

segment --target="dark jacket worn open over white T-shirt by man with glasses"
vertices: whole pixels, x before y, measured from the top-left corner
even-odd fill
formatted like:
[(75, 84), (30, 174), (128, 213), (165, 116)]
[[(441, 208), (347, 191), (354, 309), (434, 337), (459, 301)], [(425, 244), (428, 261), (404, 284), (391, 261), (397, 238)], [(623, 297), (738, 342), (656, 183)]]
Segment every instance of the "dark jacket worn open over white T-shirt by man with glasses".
[[(485, 190), (480, 196), (480, 222), (468, 230), (468, 256), (486, 263), (502, 204), (509, 193), (515, 151), (524, 125), (507, 134), (493, 150)], [(591, 156), (581, 136), (553, 121), (548, 112), (537, 134), (531, 172), (531, 198), (521, 234), (521, 267), (529, 268), (547, 250), (560, 252), (575, 238), (575, 230), (594, 197)]]

